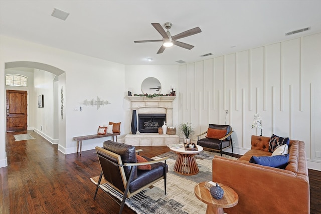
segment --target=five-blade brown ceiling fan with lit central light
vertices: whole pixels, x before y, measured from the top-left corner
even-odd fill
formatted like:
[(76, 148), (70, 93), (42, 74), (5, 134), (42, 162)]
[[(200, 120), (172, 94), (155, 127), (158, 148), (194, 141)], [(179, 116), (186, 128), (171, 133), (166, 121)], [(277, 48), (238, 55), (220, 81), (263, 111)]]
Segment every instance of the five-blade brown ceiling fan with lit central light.
[(173, 45), (177, 45), (182, 48), (186, 48), (188, 50), (191, 50), (192, 48), (194, 48), (193, 45), (179, 42), (176, 40), (184, 38), (184, 37), (192, 36), (194, 34), (198, 34), (198, 33), (202, 32), (199, 27), (196, 27), (196, 28), (190, 29), (188, 31), (184, 31), (184, 32), (177, 34), (175, 36), (171, 36), (171, 33), (169, 30), (172, 27), (172, 23), (170, 23), (170, 22), (165, 23), (164, 26), (167, 29), (167, 32), (164, 30), (164, 28), (159, 23), (151, 23), (151, 25), (156, 29), (156, 31), (158, 31), (159, 34), (161, 34), (163, 36), (163, 40), (140, 40), (140, 41), (134, 41), (134, 43), (163, 42), (163, 45), (161, 46), (161, 48), (159, 48), (159, 50), (157, 51), (157, 54), (162, 54), (167, 47), (172, 47)]

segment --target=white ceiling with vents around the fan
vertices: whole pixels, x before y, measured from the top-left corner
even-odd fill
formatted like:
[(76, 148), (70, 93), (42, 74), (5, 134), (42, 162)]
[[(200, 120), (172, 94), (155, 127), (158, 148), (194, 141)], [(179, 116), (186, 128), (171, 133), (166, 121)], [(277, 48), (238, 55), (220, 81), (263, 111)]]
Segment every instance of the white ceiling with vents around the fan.
[[(70, 13), (67, 20), (52, 17), (54, 8)], [(320, 9), (320, 0), (0, 0), (0, 35), (125, 65), (178, 65), (319, 33)], [(195, 47), (156, 54), (162, 42), (133, 42), (162, 39), (150, 23), (166, 22), (172, 36), (200, 27), (178, 40)], [(285, 36), (305, 27), (311, 30)]]

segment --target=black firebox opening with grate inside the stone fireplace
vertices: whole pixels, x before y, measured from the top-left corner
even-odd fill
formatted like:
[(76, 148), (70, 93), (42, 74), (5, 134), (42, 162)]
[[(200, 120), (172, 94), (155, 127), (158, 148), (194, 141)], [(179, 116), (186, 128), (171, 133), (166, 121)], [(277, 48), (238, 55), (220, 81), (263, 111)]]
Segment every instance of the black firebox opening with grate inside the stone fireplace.
[(166, 114), (138, 114), (138, 131), (140, 133), (157, 133), (166, 121)]

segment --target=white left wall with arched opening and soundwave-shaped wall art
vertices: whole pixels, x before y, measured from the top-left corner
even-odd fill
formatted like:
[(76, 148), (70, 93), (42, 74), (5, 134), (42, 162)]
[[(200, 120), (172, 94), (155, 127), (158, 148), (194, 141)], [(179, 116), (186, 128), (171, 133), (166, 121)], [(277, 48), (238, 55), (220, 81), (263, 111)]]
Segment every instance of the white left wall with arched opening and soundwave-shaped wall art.
[[(125, 89), (124, 65), (104, 61), (80, 54), (75, 54), (43, 45), (0, 37), (0, 76), (5, 76), (5, 64), (8, 62), (39, 62), (55, 66), (65, 71), (66, 88), (64, 89), (64, 119), (66, 136), (61, 139), (59, 123), (59, 150), (64, 153), (76, 152), (74, 136), (97, 132), (98, 126), (109, 121), (123, 121), (123, 92)], [(60, 77), (59, 77), (60, 79)], [(60, 83), (59, 83), (60, 85)], [(0, 82), (0, 118), (5, 117), (5, 81)], [(111, 104), (97, 107), (84, 106), (80, 102), (97, 97), (108, 100)], [(82, 111), (74, 107), (82, 106)], [(44, 125), (46, 126), (46, 124)], [(0, 120), (0, 167), (7, 165), (5, 138), (6, 122)], [(123, 125), (121, 132), (124, 133)], [(106, 138), (107, 139), (107, 138)], [(83, 145), (83, 150), (102, 146), (102, 141), (91, 140)]]

